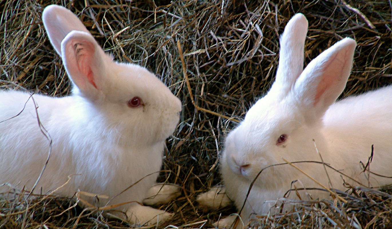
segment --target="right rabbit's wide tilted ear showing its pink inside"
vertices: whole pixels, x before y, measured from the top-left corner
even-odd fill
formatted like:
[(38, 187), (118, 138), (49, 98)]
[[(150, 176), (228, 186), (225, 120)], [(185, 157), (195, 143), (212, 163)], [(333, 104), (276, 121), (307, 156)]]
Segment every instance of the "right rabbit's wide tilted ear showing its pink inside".
[(304, 107), (309, 120), (324, 115), (338, 99), (350, 76), (357, 43), (345, 38), (312, 60), (294, 86), (294, 97)]

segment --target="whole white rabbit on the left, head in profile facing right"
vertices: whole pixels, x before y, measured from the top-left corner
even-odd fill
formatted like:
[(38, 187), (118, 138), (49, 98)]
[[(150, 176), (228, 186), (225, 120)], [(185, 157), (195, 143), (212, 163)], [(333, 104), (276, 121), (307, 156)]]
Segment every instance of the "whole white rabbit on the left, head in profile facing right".
[(98, 206), (131, 202), (116, 209), (134, 223), (169, 218), (171, 213), (139, 203), (156, 182), (180, 100), (145, 68), (114, 62), (68, 9), (50, 5), (42, 18), (72, 95), (0, 92), (0, 184), (33, 189), (49, 154), (46, 133), (53, 144), (34, 193), (53, 191), (74, 174), (55, 194), (108, 196)]

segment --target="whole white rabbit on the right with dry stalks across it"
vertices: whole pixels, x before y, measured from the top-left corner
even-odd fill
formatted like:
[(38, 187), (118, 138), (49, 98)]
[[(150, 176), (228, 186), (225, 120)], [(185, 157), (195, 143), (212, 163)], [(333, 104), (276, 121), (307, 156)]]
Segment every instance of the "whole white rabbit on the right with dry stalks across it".
[[(289, 21), (280, 39), (274, 84), (225, 140), (220, 159), (225, 190), (210, 192), (226, 191), (238, 209), (245, 203), (240, 214), (245, 224), (254, 214), (279, 211), (279, 205), (274, 204), (290, 189), (321, 188), (291, 165), (276, 165), (285, 163), (283, 159), (324, 161), (347, 175), (327, 165), (325, 169), (321, 163), (295, 163), (328, 188), (346, 191), (343, 179), (351, 185), (370, 187), (392, 183), (390, 178), (371, 173), (392, 175), (392, 86), (336, 102), (350, 75), (356, 42), (351, 38), (337, 42), (303, 69), (307, 27), (302, 14)], [(361, 162), (367, 164), (372, 145), (374, 156), (364, 172)], [(299, 182), (292, 183), (296, 180)], [(299, 193), (307, 199), (304, 191)], [(326, 191), (307, 193), (313, 198), (330, 196)], [(296, 198), (296, 192), (287, 196)], [(224, 201), (222, 195), (208, 192), (198, 198), (209, 206)], [(292, 207), (284, 206), (284, 210)], [(232, 220), (233, 216), (220, 221), (219, 227), (228, 226)]]

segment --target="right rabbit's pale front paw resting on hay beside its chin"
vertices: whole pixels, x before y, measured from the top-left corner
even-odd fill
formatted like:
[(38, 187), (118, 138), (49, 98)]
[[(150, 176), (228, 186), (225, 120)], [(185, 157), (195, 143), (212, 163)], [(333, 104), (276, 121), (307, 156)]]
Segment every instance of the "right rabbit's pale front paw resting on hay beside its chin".
[(224, 187), (213, 187), (208, 192), (201, 193), (196, 201), (201, 207), (208, 209), (219, 209), (232, 204)]

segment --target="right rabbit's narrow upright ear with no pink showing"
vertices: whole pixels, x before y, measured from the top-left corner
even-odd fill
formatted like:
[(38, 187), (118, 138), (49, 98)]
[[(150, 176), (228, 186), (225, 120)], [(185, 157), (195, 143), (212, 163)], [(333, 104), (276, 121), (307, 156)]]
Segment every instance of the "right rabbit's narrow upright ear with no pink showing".
[(271, 91), (284, 97), (303, 70), (303, 53), (308, 20), (301, 13), (294, 15), (280, 38), (279, 66)]

